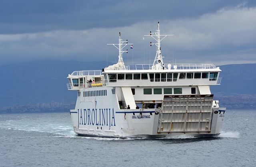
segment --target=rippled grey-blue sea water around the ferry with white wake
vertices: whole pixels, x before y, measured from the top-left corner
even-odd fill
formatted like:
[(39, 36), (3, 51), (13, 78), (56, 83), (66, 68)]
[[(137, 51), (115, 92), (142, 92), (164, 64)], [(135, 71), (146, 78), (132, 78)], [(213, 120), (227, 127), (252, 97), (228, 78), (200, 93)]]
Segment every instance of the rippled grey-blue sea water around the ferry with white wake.
[(74, 134), (69, 112), (0, 114), (0, 166), (256, 166), (256, 110), (229, 109), (216, 138)]

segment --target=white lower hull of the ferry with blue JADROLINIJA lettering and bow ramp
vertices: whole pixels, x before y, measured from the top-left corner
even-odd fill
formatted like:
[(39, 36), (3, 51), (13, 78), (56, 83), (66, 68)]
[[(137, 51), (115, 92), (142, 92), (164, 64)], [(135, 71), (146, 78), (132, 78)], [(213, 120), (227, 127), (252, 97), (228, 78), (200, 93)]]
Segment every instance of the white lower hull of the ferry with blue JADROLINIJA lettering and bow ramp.
[[(184, 97), (172, 101), (165, 98), (162, 110), (119, 109), (117, 95), (111, 93), (112, 88), (104, 90), (107, 91), (106, 96), (78, 97), (76, 109), (70, 110), (76, 134), (108, 138), (166, 138), (181, 135), (212, 137), (221, 132), (225, 111), (213, 107), (215, 101), (207, 101), (208, 97), (200, 96), (201, 101), (189, 102)], [(202, 105), (208, 110), (202, 112)], [(191, 110), (191, 107), (196, 110)]]

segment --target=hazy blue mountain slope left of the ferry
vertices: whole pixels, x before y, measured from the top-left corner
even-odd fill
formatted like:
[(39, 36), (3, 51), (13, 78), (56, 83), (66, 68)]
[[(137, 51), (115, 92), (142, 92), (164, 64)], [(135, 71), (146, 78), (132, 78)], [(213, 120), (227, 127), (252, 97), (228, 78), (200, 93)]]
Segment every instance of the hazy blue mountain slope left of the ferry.
[[(111, 63), (112, 64), (112, 63)], [(81, 70), (100, 70), (106, 61), (79, 62), (42, 60), (0, 66), (0, 107), (37, 102), (76, 101), (67, 89), (68, 74)]]

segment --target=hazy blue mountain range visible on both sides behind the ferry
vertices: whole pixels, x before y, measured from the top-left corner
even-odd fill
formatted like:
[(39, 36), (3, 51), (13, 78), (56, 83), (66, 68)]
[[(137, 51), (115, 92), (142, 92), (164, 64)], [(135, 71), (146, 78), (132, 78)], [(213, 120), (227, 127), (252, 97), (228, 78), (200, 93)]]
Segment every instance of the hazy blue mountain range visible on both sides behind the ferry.
[[(112, 65), (113, 63), (108, 63)], [(0, 107), (37, 102), (76, 101), (76, 93), (67, 89), (68, 73), (100, 70), (106, 61), (79, 62), (42, 60), (0, 66)], [(256, 64), (220, 66), (221, 85), (212, 86), (216, 96), (256, 94)]]

